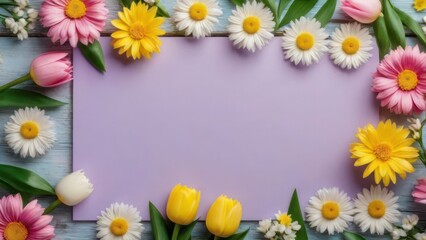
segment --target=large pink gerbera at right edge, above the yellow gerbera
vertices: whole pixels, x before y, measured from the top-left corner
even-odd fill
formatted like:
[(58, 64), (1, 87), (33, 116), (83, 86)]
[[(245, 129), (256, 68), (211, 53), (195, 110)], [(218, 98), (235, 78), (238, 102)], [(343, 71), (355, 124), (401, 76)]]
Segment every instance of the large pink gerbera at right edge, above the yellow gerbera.
[(377, 67), (373, 88), (382, 107), (396, 114), (426, 109), (426, 53), (419, 47), (398, 47)]

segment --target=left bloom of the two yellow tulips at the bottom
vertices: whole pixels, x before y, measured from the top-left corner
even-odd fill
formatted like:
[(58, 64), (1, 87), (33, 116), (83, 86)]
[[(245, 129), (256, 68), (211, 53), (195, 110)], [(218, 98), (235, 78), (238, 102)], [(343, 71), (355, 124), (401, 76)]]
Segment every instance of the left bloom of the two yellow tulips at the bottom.
[(195, 220), (201, 193), (194, 188), (176, 185), (167, 201), (167, 217), (179, 225), (188, 225)]

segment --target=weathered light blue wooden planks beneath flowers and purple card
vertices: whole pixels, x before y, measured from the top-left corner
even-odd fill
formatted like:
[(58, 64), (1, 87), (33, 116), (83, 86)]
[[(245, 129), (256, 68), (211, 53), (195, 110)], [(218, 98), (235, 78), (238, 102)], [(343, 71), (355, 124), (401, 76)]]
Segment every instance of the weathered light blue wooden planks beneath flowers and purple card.
[[(324, 1), (325, 0), (320, 0), (309, 16), (313, 16)], [(34, 7), (39, 8), (42, 0), (30, 0), (30, 2)], [(117, 11), (120, 10), (118, 0), (106, 0), (106, 2), (107, 8), (109, 9), (108, 19), (111, 20), (116, 18)], [(174, 0), (163, 0), (164, 5), (169, 11), (172, 10), (174, 2)], [(426, 16), (426, 12), (417, 13), (414, 11), (412, 8), (413, 0), (393, 0), (393, 2), (397, 7), (409, 13), (419, 22)], [(220, 17), (220, 24), (216, 27), (215, 34), (224, 35), (226, 34), (227, 18), (231, 14), (233, 6), (230, 4), (230, 0), (219, 0), (219, 3), (223, 8), (224, 14)], [(345, 21), (347, 21), (347, 18), (338, 9), (333, 17), (332, 23), (327, 26), (328, 31), (331, 32), (338, 23)], [(167, 20), (165, 24), (165, 29), (170, 36), (182, 36), (182, 33), (176, 32), (169, 20)], [(113, 30), (110, 21), (108, 21), (103, 35), (108, 36)], [(30, 38), (21, 42), (11, 36), (4, 28), (0, 28), (0, 54), (4, 60), (3, 64), (0, 64), (0, 84), (4, 84), (27, 73), (31, 60), (42, 52), (61, 49), (71, 53), (71, 48), (68, 45), (59, 46), (57, 44), (52, 44), (50, 39), (45, 37), (45, 33), (46, 29), (37, 26), (36, 30), (31, 32)], [(415, 41), (410, 38), (409, 43), (415, 44)], [(79, 81), (79, 79), (75, 81)], [(26, 160), (20, 159), (14, 155), (4, 141), (3, 126), (8, 121), (9, 116), (13, 114), (14, 109), (0, 110), (0, 127), (2, 129), (0, 131), (0, 163), (32, 169), (54, 185), (72, 169), (72, 84), (67, 84), (55, 89), (37, 88), (31, 83), (23, 87), (42, 92), (69, 104), (60, 108), (47, 110), (47, 114), (51, 116), (56, 123), (57, 141), (54, 148), (46, 156)], [(383, 114), (382, 117), (388, 116), (396, 119), (395, 116), (386, 113)], [(401, 118), (399, 119), (401, 120)], [(319, 141), (321, 140), (319, 139)], [(416, 178), (426, 176), (426, 170), (422, 164), (417, 163), (416, 168), (416, 173), (409, 175), (405, 181), (399, 181), (394, 187), (394, 191), (400, 196), (399, 203), (401, 211), (404, 213), (418, 213), (421, 219), (426, 220), (426, 206), (414, 204), (410, 196)], [(299, 191), (303, 191), (303, 189), (299, 189)], [(1, 193), (4, 192), (0, 192), (0, 194)], [(44, 206), (46, 206), (46, 201), (52, 201), (52, 199), (41, 199)], [(53, 224), (56, 227), (55, 239), (96, 239), (96, 224), (94, 222), (73, 222), (72, 209), (70, 207), (60, 207), (55, 210), (53, 215)], [(265, 218), (267, 217), (273, 216), (265, 216)], [(145, 230), (142, 239), (152, 239), (149, 223), (145, 222), (144, 225)], [(262, 239), (262, 236), (256, 232), (256, 225), (257, 222), (244, 222), (241, 224), (240, 229), (251, 229), (247, 239)], [(354, 228), (354, 230), (356, 230), (356, 228)], [(339, 235), (330, 237), (318, 234), (311, 229), (309, 229), (309, 232), (309, 239), (342, 239)], [(193, 239), (208, 239), (208, 236), (209, 234), (204, 224), (198, 224), (194, 230)], [(368, 237), (368, 239), (389, 239), (389, 237)]]

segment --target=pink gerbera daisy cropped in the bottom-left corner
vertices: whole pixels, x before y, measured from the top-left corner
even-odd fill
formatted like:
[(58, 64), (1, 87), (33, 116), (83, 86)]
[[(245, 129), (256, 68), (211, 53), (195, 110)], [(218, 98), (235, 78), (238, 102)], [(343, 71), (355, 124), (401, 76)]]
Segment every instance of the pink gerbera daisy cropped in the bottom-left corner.
[(0, 239), (50, 240), (55, 229), (49, 225), (52, 216), (43, 215), (44, 209), (33, 200), (23, 207), (21, 195), (0, 199)]

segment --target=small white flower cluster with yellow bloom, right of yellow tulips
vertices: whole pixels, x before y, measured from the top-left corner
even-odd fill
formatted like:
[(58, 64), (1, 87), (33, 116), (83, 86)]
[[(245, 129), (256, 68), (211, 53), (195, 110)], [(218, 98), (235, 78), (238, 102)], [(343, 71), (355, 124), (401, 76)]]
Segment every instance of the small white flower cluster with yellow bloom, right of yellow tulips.
[(257, 230), (269, 240), (295, 240), (296, 233), (301, 226), (297, 221), (292, 221), (291, 215), (278, 212), (277, 219), (264, 219), (259, 222)]

